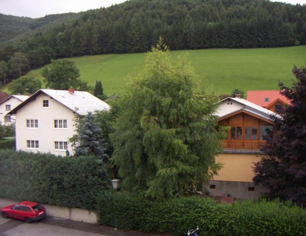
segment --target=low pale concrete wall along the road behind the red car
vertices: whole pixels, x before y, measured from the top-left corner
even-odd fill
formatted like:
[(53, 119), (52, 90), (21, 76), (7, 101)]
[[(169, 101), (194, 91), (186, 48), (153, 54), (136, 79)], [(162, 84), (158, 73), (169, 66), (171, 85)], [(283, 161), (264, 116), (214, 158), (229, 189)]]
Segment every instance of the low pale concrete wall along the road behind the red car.
[[(0, 198), (0, 208), (13, 205), (19, 202), (21, 201), (13, 201), (9, 199)], [(98, 213), (95, 211), (80, 208), (51, 206), (47, 204), (43, 204), (43, 206), (46, 208), (47, 215), (68, 220), (82, 221), (85, 223), (98, 223)]]

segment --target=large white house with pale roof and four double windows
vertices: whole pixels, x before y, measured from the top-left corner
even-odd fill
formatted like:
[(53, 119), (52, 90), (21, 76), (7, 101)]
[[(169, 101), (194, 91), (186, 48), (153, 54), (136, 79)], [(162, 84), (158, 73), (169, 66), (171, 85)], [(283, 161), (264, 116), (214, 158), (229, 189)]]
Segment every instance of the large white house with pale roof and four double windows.
[(16, 149), (72, 154), (68, 139), (75, 133), (74, 117), (108, 111), (109, 105), (86, 91), (40, 89), (9, 112), (16, 115)]

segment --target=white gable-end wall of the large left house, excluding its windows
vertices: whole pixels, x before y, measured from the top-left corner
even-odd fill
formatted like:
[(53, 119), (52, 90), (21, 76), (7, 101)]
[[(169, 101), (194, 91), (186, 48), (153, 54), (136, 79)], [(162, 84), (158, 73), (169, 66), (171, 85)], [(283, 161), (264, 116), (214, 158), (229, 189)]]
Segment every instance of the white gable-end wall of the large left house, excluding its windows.
[[(49, 107), (42, 106), (43, 100), (49, 101)], [(54, 142), (67, 142), (74, 134), (74, 114), (67, 107), (46, 94), (40, 94), (34, 101), (18, 110), (15, 117), (17, 150), (66, 155), (66, 150), (55, 150)], [(38, 128), (27, 128), (26, 119), (38, 119)], [(54, 119), (67, 119), (67, 128), (54, 128)], [(27, 148), (27, 140), (38, 140), (39, 148)], [(68, 151), (72, 154), (70, 144)]]

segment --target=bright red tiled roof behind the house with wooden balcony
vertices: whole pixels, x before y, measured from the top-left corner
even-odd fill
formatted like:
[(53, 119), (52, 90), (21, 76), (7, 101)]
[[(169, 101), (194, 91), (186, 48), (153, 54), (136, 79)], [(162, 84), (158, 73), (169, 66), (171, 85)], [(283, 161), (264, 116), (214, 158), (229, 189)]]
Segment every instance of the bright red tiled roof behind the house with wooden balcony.
[(246, 97), (246, 100), (261, 107), (267, 107), (277, 99), (289, 105), (291, 104), (290, 100), (280, 94), (279, 90), (250, 90), (247, 91)]

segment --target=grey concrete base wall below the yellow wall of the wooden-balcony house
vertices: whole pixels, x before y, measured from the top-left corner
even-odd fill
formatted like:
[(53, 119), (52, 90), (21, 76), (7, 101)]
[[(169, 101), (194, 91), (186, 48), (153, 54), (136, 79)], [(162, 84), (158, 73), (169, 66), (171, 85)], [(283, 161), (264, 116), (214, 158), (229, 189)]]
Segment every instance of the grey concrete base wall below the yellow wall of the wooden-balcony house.
[[(215, 188), (210, 188), (214, 185)], [(253, 182), (238, 182), (238, 181), (220, 181), (209, 180), (203, 187), (209, 192), (211, 196), (227, 196), (237, 199), (252, 199), (258, 200), (259, 195), (268, 192), (269, 190), (262, 185), (255, 185)], [(254, 191), (249, 191), (249, 187), (253, 187)]]

